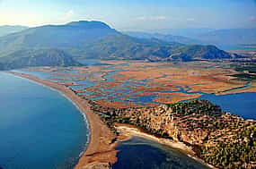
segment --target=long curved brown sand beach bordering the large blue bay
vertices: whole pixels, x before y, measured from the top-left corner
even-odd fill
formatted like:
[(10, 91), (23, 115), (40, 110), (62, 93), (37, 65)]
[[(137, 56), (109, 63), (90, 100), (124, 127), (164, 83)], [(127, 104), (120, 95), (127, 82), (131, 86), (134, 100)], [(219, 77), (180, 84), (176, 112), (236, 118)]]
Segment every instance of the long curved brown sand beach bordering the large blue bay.
[(82, 168), (109, 168), (110, 164), (114, 164), (117, 161), (117, 142), (111, 143), (112, 139), (116, 136), (112, 134), (110, 129), (102, 122), (98, 114), (94, 114), (91, 110), (91, 105), (81, 97), (75, 95), (75, 93), (68, 89), (64, 85), (59, 85), (56, 82), (49, 80), (41, 80), (35, 76), (24, 74), (20, 72), (6, 72), (15, 76), (32, 80), (41, 85), (55, 89), (65, 97), (68, 97), (79, 109), (85, 114), (90, 129), (90, 138), (87, 148), (84, 154), (80, 156), (79, 162), (75, 165), (75, 169)]

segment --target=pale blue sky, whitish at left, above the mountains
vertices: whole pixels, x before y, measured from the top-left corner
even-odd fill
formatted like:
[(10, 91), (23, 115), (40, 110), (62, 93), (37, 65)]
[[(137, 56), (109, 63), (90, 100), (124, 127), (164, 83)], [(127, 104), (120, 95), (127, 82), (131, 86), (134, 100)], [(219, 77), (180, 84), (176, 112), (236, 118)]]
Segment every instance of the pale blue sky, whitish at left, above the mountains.
[(117, 30), (256, 27), (256, 0), (0, 0), (0, 25), (103, 21)]

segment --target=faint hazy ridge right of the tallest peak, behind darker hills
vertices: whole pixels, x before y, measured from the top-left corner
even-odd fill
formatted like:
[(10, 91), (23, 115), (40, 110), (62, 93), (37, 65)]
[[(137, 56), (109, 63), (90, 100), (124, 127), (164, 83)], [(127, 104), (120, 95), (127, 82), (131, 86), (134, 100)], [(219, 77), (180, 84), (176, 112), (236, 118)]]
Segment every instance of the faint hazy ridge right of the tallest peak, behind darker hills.
[(160, 34), (160, 33), (146, 33), (146, 32), (137, 32), (137, 31), (127, 31), (124, 32), (128, 36), (135, 38), (159, 38), (167, 42), (178, 42), (181, 44), (200, 44), (199, 40), (193, 38), (186, 38), (182, 36), (173, 36), (171, 34)]

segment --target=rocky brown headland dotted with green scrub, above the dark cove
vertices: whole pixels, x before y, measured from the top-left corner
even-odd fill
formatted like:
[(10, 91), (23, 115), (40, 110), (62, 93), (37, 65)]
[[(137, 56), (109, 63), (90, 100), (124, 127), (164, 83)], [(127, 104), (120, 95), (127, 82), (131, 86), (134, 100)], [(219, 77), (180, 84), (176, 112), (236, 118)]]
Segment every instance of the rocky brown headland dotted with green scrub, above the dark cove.
[(206, 100), (123, 109), (93, 105), (93, 110), (113, 130), (113, 123), (129, 123), (156, 136), (179, 140), (216, 167), (256, 167), (256, 122), (224, 113)]

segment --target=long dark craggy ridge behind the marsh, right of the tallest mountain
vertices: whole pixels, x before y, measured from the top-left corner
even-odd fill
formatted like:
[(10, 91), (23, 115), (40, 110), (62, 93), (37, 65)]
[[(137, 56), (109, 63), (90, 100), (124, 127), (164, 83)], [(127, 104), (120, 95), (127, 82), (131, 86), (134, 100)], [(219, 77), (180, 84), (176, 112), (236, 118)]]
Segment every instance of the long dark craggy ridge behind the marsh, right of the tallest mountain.
[(213, 59), (233, 59), (231, 55), (216, 46), (182, 45), (165, 42), (157, 38), (132, 38), (127, 35), (115, 35), (90, 43), (80, 50), (82, 58), (147, 60), (147, 61), (193, 61)]

